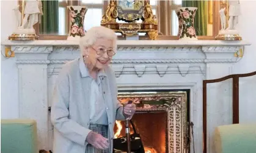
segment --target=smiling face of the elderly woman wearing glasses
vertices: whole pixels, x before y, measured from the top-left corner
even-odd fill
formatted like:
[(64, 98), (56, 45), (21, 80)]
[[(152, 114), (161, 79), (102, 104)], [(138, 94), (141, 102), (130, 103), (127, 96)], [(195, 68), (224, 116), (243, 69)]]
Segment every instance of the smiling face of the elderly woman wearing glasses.
[(92, 46), (85, 48), (84, 54), (88, 55), (86, 58), (87, 62), (97, 69), (107, 66), (112, 60), (112, 57), (109, 55), (114, 54), (113, 43), (114, 41), (112, 40), (99, 38)]

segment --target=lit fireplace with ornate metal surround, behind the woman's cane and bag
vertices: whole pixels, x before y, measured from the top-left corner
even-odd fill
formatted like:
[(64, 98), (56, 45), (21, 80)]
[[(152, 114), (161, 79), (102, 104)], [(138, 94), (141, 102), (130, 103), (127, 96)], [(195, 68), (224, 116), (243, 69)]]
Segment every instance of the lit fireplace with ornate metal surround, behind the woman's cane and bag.
[[(132, 100), (137, 110), (131, 120), (146, 153), (188, 151), (189, 90), (120, 91), (119, 101)], [(130, 125), (131, 133), (133, 128)], [(125, 136), (124, 121), (115, 122), (115, 138)]]

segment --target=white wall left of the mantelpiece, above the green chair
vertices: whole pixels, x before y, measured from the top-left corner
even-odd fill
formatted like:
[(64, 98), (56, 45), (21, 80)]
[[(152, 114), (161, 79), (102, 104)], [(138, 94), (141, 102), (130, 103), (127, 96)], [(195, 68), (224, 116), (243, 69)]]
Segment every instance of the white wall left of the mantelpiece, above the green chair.
[[(6, 40), (15, 29), (12, 8), (15, 1), (1, 1), (1, 41)], [(15, 58), (5, 59), (1, 49), (1, 118), (18, 118), (18, 72)]]

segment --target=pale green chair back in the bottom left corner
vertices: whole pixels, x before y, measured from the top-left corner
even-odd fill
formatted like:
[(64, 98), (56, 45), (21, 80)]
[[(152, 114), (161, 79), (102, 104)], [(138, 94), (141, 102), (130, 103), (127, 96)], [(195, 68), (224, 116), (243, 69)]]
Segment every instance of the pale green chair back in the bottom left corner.
[(1, 153), (35, 153), (37, 124), (32, 119), (1, 119)]

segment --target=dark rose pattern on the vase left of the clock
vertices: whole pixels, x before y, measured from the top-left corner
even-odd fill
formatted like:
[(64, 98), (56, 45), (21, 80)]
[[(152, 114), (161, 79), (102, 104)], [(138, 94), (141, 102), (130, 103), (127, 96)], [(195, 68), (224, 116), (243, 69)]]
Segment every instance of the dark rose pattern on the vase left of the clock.
[(85, 35), (84, 32), (84, 15), (86, 15), (86, 8), (82, 7), (81, 10), (78, 12), (78, 10), (75, 10), (73, 7), (68, 7), (68, 10), (70, 12), (70, 21), (71, 21), (71, 27), (70, 27), (70, 34), (69, 36), (72, 37), (82, 37)]

